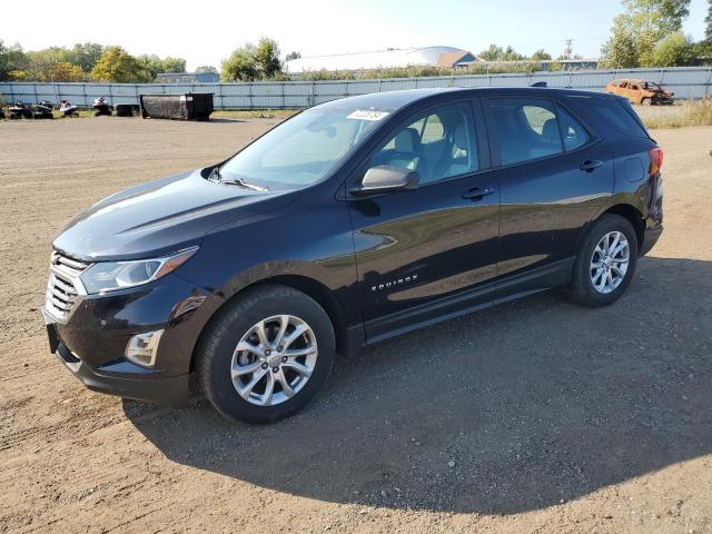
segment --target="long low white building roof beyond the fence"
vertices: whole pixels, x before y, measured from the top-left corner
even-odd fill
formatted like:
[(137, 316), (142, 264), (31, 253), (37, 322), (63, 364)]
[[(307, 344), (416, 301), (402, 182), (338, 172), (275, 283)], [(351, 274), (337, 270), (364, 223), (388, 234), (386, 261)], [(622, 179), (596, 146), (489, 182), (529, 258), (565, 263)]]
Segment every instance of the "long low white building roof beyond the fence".
[(290, 75), (317, 70), (372, 70), (378, 68), (404, 68), (424, 65), (437, 65), (443, 53), (464, 52), (453, 47), (406, 48), (380, 50), (377, 52), (340, 53), (335, 56), (314, 56), (293, 59), (286, 62)]

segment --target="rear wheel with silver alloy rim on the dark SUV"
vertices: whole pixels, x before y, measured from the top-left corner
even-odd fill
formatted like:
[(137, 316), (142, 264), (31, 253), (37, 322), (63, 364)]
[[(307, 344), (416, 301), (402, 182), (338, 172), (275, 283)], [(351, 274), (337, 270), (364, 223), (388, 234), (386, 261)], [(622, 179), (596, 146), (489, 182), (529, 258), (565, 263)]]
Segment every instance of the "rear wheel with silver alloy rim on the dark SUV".
[(637, 264), (637, 236), (631, 222), (605, 214), (586, 233), (567, 287), (582, 306), (607, 306), (627, 288)]

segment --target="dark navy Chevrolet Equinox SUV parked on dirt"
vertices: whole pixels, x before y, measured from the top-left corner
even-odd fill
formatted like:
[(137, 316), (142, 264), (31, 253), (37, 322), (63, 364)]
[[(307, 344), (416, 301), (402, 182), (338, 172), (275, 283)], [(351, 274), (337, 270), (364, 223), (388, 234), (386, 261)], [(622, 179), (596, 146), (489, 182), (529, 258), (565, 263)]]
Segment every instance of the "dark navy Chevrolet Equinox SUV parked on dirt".
[(662, 231), (662, 159), (610, 95), (323, 103), (71, 220), (51, 257), (51, 350), (91, 389), (168, 405), (194, 389), (275, 421), (336, 353), (555, 286), (615, 301)]

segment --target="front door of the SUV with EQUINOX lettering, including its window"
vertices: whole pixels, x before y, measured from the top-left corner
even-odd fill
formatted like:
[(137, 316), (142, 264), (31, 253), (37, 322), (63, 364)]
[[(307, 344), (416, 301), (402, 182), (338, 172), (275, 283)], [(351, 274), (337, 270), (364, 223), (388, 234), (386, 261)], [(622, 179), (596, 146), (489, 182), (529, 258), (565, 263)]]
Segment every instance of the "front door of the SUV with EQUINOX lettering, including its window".
[(418, 112), (359, 170), (393, 165), (421, 177), (415, 190), (348, 201), (367, 339), (492, 297), (476, 290), (496, 276), (500, 212), (481, 117), (469, 100)]

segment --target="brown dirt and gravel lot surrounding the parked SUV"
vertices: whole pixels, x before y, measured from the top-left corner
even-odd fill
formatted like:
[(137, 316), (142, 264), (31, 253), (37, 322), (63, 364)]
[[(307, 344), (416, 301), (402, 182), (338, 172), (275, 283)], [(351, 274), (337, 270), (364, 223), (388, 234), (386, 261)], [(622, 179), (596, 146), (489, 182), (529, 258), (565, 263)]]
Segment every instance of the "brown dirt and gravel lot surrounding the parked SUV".
[(72, 378), (39, 316), (61, 226), (268, 125), (0, 122), (0, 532), (712, 532), (712, 128), (654, 134), (666, 230), (612, 307), (387, 342), (271, 426)]

